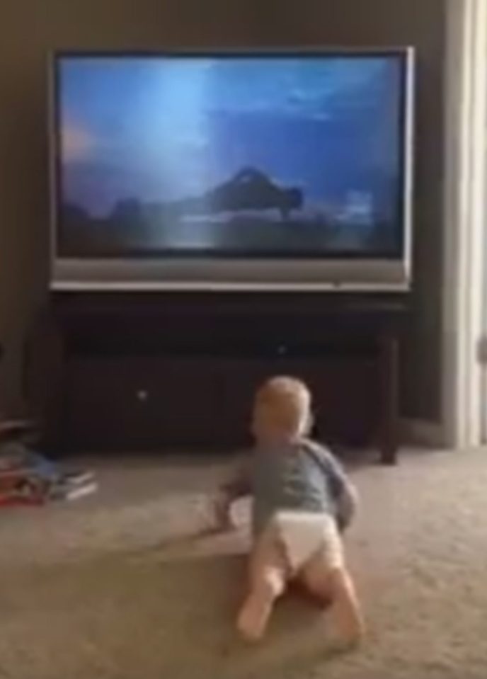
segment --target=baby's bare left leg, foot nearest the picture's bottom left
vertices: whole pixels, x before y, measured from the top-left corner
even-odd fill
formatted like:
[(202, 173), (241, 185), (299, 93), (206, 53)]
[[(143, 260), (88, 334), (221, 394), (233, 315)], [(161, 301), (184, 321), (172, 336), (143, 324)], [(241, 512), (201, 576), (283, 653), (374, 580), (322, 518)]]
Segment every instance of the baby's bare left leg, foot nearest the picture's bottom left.
[(285, 559), (273, 532), (265, 534), (253, 550), (249, 575), (250, 590), (239, 612), (237, 629), (248, 641), (258, 641), (265, 633), (275, 600), (286, 586)]

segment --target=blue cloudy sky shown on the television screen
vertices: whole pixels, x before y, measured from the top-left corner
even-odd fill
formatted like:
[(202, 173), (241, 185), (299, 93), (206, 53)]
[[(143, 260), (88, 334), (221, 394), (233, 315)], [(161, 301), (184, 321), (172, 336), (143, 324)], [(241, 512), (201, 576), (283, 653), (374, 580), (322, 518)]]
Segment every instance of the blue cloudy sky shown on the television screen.
[(246, 166), (315, 202), (390, 200), (394, 60), (69, 57), (59, 85), (64, 200), (93, 214), (197, 195)]

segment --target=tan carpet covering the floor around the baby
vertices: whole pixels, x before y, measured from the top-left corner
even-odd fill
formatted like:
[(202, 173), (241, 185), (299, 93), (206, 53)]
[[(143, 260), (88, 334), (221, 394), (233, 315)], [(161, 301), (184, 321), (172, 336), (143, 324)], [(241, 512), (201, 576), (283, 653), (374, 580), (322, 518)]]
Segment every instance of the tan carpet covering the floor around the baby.
[(244, 526), (161, 545), (204, 524), (223, 469), (110, 462), (96, 498), (1, 510), (0, 677), (486, 679), (487, 452), (353, 471), (362, 515), (347, 543), (369, 633), (337, 658), (323, 653), (321, 615), (297, 598), (258, 649), (234, 638)]

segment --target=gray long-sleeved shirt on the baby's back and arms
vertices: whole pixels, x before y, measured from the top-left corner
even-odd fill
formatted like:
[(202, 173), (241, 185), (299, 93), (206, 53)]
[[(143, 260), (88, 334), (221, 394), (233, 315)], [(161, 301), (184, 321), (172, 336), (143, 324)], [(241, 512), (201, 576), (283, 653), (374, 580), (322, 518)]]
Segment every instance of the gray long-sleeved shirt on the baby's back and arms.
[(231, 499), (253, 496), (254, 535), (281, 509), (333, 515), (343, 530), (356, 507), (355, 489), (341, 464), (308, 439), (256, 447), (224, 491)]

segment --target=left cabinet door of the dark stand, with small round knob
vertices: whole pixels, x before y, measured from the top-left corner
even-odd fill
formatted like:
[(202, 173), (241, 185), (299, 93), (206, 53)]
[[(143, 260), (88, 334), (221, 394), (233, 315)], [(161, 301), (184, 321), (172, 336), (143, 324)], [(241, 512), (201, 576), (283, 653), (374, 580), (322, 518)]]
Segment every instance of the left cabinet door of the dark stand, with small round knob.
[(103, 357), (69, 369), (67, 439), (78, 449), (210, 444), (214, 412), (211, 362)]

